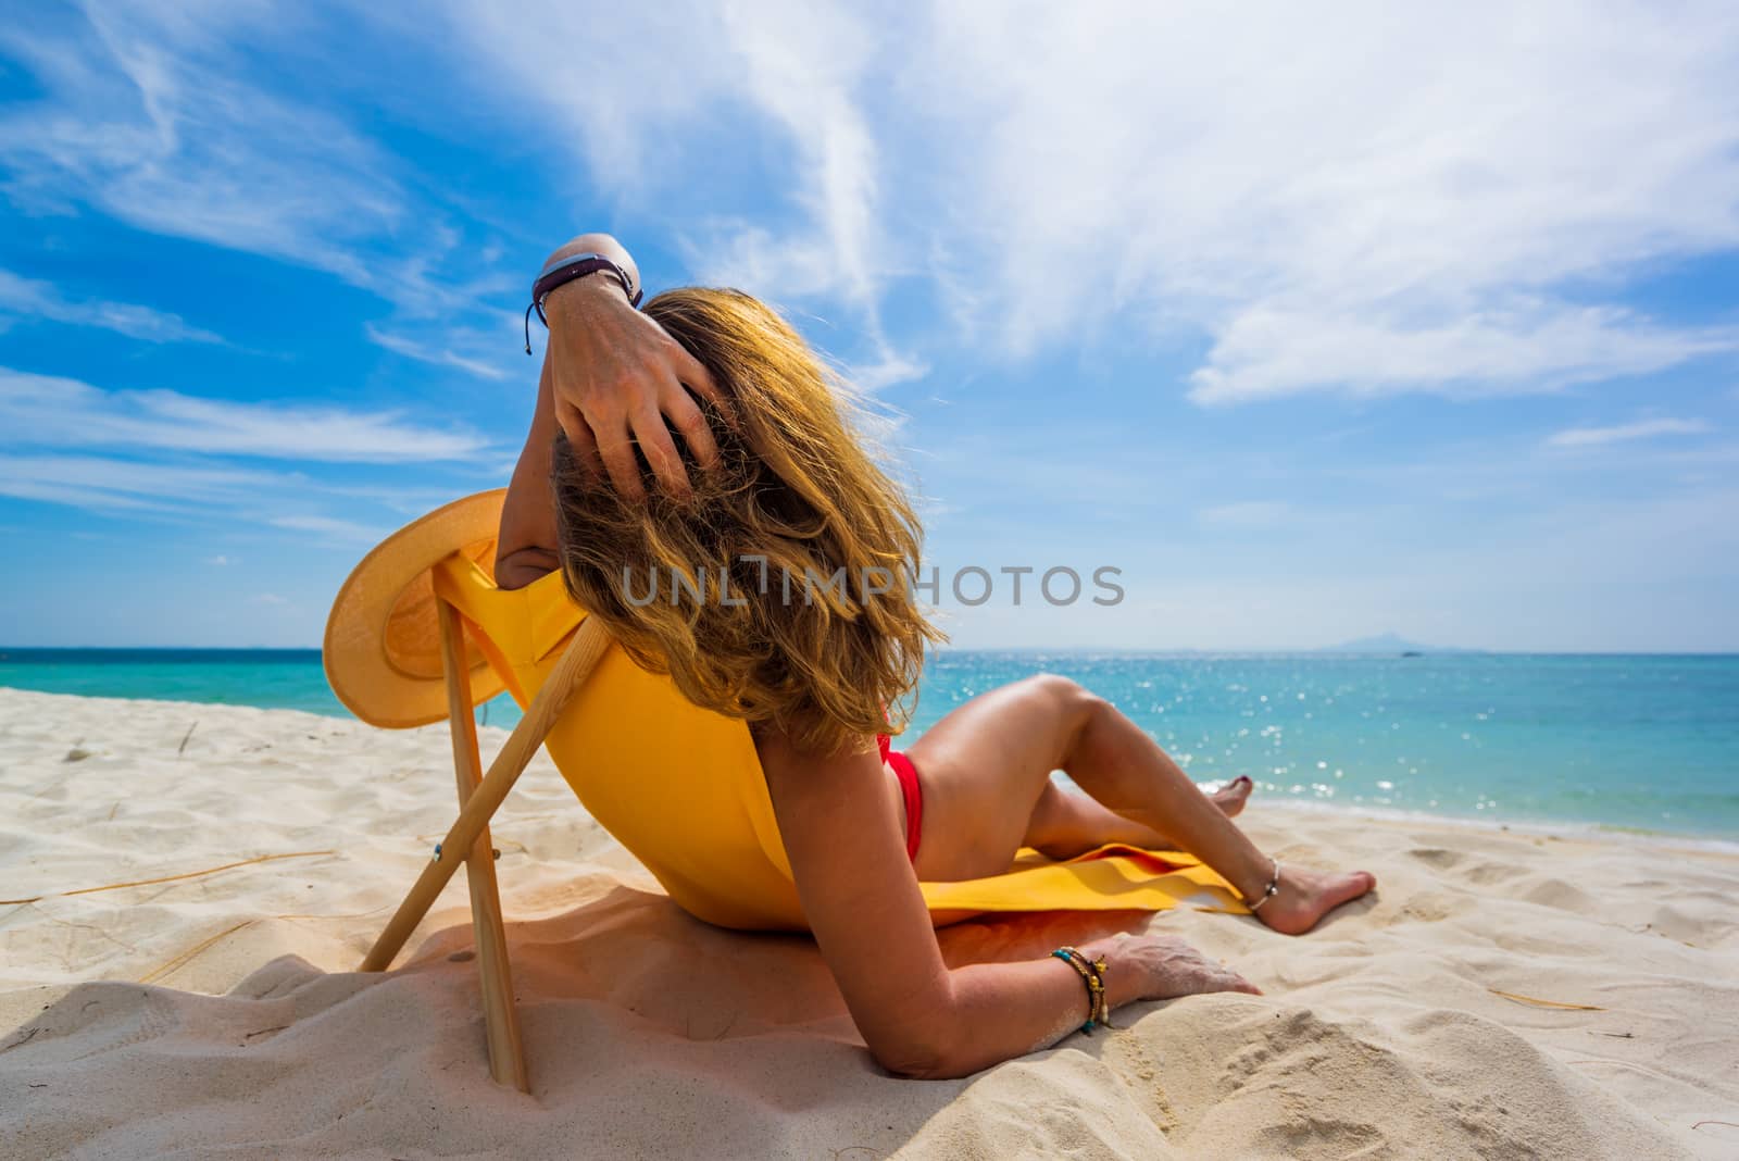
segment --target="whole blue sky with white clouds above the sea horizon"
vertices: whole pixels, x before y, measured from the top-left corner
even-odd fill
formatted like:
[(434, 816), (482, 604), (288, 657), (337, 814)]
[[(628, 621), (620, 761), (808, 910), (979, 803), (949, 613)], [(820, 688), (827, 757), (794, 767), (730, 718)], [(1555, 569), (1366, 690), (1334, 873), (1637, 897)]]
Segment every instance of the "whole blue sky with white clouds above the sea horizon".
[(1739, 650), (1732, 5), (640, 7), (9, 17), (0, 643), (316, 645), (609, 229), (873, 391), (944, 575), (1122, 570), (958, 645)]

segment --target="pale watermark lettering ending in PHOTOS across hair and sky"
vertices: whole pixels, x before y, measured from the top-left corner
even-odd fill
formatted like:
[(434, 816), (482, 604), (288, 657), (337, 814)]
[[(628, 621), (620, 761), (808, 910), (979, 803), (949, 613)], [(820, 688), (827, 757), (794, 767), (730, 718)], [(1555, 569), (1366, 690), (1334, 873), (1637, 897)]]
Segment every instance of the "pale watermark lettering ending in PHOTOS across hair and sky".
[(882, 596), (899, 596), (930, 605), (953, 600), (967, 608), (988, 605), (991, 600), (1007, 600), (1014, 607), (1036, 601), (1054, 607), (1080, 601), (1113, 607), (1123, 601), (1123, 586), (1116, 582), (1123, 570), (1113, 565), (1090, 568), (1085, 577), (1068, 565), (1050, 568), (967, 565), (946, 575), (936, 565), (929, 568), (929, 575), (922, 568), (918, 575), (911, 575), (906, 570), (878, 565), (857, 570), (842, 565), (833, 572), (803, 568), (802, 574), (795, 574), (790, 568), (770, 567), (765, 556), (739, 556), (737, 565), (737, 568), (720, 565), (670, 570), (636, 570), (624, 565), (623, 600), (635, 608), (657, 601), (668, 605), (715, 601), (725, 608), (737, 608), (748, 605), (750, 594), (772, 596), (784, 605), (864, 603)]

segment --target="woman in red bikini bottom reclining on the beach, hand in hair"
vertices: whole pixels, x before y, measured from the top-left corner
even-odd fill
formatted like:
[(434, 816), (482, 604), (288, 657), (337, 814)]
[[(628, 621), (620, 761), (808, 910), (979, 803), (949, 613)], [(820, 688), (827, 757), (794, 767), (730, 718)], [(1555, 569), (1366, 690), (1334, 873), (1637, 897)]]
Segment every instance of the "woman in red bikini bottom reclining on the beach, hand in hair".
[[(1021, 846), (1056, 859), (1106, 843), (1184, 850), (1290, 935), (1374, 886), (1362, 871), (1282, 869), (1233, 822), (1249, 779), (1205, 796), (1066, 678), (986, 693), (904, 754), (889, 751), (887, 714), (941, 638), (908, 586), (875, 593), (885, 582), (866, 579), (918, 575), (911, 506), (854, 435), (849, 398), (777, 315), (692, 289), (636, 311), (638, 285), (607, 235), (576, 238), (546, 266), (550, 349), (501, 520), (497, 584), (563, 570), (630, 655), (668, 669), (696, 704), (748, 721), (803, 916), (883, 1067), (963, 1076), (1103, 1020), (1104, 1006), (1257, 991), (1162, 935), (949, 970), (932, 923), (951, 916), (925, 909), (920, 879), (1002, 874)], [(729, 600), (647, 601), (650, 577), (673, 567), (730, 570)], [(805, 577), (842, 567), (847, 589), (805, 589)], [(762, 584), (744, 568), (760, 568)], [(796, 579), (790, 600), (779, 575)]]

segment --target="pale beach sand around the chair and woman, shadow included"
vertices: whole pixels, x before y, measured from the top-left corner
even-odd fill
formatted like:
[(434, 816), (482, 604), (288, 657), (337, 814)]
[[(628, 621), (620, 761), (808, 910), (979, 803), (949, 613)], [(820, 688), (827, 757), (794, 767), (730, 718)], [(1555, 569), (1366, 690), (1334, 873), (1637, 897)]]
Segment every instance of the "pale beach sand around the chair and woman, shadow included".
[[(807, 940), (683, 916), (539, 760), (496, 827), (525, 1097), (487, 1078), (461, 881), (402, 966), (351, 972), (452, 813), (443, 726), (0, 690), (0, 897), (40, 897), (0, 906), (0, 1156), (1739, 1156), (1730, 853), (1257, 801), (1282, 859), (1381, 879), (1304, 939), (1153, 919), (1266, 996), (916, 1083)], [(261, 855), (290, 857), (70, 893)]]

